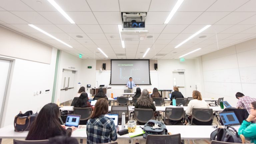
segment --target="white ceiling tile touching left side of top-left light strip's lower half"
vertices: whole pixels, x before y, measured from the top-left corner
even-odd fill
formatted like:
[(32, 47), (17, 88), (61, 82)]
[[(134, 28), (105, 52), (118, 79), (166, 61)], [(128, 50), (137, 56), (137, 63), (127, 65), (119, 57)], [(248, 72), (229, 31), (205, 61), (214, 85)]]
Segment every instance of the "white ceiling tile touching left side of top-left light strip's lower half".
[(38, 13), (53, 24), (70, 24), (70, 22), (66, 18), (64, 18), (60, 12), (43, 11)]

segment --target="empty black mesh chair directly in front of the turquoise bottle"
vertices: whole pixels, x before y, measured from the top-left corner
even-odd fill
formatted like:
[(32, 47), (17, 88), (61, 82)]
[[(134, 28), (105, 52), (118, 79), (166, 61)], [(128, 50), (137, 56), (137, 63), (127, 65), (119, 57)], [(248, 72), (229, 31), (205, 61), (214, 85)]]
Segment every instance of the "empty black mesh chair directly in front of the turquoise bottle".
[(164, 124), (166, 125), (184, 125), (183, 122), (185, 120), (185, 112), (182, 107), (165, 108), (165, 118), (163, 119)]

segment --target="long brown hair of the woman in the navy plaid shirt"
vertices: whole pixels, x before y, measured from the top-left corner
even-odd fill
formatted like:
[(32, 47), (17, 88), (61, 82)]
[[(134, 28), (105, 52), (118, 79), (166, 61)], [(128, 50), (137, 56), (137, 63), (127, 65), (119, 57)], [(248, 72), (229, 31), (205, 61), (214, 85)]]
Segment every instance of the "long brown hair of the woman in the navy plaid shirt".
[(95, 103), (94, 110), (90, 118), (97, 118), (100, 115), (108, 113), (108, 101), (106, 99), (98, 99)]

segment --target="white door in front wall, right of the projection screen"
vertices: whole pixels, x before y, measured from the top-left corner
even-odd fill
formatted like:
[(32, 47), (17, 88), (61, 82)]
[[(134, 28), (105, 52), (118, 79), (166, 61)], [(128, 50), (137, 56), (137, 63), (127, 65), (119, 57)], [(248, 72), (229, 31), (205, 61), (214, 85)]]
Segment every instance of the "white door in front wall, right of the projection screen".
[(186, 90), (185, 90), (185, 81), (184, 81), (184, 72), (172, 72), (173, 75), (173, 86), (179, 88), (179, 91), (185, 97)]

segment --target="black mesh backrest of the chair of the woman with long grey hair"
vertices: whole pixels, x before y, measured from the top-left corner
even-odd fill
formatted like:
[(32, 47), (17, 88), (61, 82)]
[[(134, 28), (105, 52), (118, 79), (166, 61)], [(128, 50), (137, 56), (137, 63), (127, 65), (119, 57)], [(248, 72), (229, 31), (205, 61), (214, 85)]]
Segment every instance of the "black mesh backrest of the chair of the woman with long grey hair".
[(153, 109), (134, 109), (134, 119), (141, 123), (146, 123), (151, 119), (154, 119), (154, 111)]

